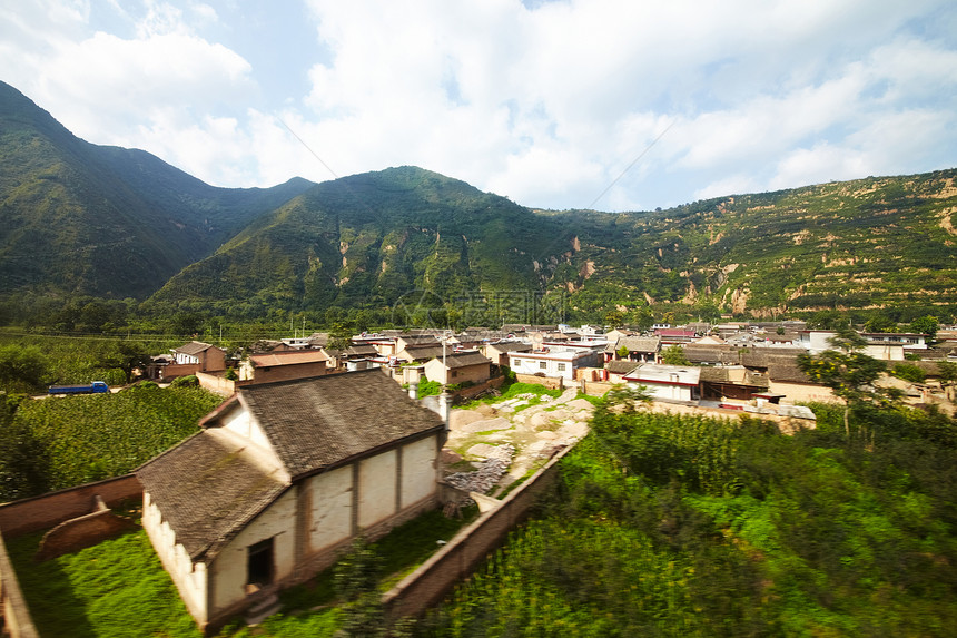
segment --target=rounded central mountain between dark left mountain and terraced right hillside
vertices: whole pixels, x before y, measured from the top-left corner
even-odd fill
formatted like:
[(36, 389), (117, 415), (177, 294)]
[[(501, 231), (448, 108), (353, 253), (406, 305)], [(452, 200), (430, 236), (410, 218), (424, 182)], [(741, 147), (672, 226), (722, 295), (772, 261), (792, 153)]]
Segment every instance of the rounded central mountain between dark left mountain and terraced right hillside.
[(389, 168), (320, 184), (256, 219), (154, 301), (211, 301), (245, 313), (382, 307), (413, 291), (453, 302), (542, 289), (547, 257), (568, 249), (566, 235), (554, 220), (463, 181)]

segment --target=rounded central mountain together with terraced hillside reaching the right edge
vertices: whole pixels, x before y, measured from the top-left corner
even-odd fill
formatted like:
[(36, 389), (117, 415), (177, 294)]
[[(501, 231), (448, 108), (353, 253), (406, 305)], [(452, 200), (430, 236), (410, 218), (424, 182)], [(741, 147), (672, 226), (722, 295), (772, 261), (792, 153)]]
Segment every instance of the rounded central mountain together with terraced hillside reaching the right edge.
[(393, 307), (418, 289), (461, 311), (470, 301), (487, 310), (492, 292), (494, 303), (534, 306), (521, 294), (531, 291), (572, 317), (662, 303), (708, 316), (951, 312), (955, 177), (871, 177), (609, 214), (533, 212), (434, 173), (393, 168), (316, 186), (154, 298), (263, 314)]

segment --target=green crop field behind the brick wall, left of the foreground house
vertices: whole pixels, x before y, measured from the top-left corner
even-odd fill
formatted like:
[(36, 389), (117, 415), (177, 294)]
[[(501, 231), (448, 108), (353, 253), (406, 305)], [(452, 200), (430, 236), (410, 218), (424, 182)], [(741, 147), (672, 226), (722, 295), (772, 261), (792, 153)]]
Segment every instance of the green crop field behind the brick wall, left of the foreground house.
[(0, 502), (130, 472), (196, 432), (223, 401), (151, 383), (117, 394), (2, 399)]

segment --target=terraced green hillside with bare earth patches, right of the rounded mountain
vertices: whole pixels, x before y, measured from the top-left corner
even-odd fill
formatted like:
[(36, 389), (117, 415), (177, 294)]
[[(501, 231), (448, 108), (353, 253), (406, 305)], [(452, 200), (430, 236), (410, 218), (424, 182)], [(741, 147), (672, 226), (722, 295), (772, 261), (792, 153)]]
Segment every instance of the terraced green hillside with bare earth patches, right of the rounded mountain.
[(568, 213), (585, 289), (729, 312), (957, 304), (957, 170), (722, 197), (640, 215)]

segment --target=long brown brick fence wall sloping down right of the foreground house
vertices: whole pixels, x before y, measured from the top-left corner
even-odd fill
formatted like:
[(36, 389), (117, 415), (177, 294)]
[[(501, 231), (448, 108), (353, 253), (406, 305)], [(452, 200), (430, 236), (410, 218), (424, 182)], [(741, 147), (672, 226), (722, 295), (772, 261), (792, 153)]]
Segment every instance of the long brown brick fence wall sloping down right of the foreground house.
[(482, 514), (461, 530), (438, 552), (383, 596), (391, 618), (420, 616), (468, 578), (486, 557), (497, 549), (514, 527), (529, 514), (558, 477), (561, 459), (572, 448), (555, 454), (541, 470), (513, 490), (499, 507)]

